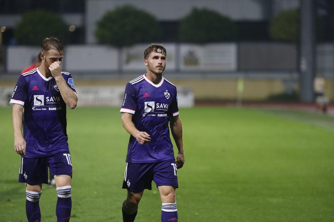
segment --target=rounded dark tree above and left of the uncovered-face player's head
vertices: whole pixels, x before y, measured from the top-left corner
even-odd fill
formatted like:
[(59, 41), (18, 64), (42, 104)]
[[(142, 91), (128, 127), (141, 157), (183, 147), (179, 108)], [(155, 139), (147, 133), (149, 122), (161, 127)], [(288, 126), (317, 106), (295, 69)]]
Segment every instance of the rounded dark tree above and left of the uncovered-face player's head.
[(160, 33), (154, 16), (127, 5), (106, 12), (95, 31), (99, 43), (115, 47), (157, 41)]

